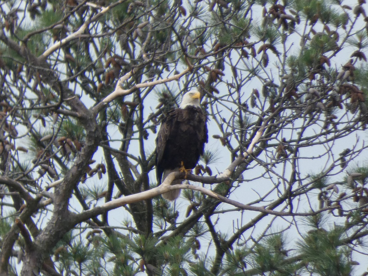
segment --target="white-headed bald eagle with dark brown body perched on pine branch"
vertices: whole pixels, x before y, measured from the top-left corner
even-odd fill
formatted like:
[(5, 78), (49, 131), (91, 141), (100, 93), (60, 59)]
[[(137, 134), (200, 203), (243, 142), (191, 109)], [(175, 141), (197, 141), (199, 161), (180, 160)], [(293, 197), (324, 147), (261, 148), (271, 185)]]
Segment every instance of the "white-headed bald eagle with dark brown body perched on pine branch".
[[(158, 185), (173, 171), (193, 169), (208, 142), (207, 118), (199, 104), (201, 94), (189, 91), (179, 108), (167, 112), (156, 138), (156, 177)], [(171, 185), (181, 184), (182, 179)], [(162, 195), (168, 200), (179, 197), (180, 190)]]

